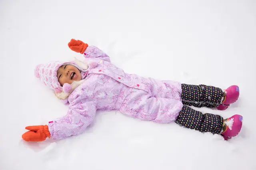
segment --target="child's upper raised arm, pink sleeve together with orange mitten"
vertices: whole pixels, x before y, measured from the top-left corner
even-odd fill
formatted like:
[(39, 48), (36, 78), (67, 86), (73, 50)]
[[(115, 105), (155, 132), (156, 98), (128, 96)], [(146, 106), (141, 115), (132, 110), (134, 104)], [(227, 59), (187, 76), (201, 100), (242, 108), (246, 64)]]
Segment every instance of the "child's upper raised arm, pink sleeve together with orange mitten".
[(68, 43), (68, 47), (77, 53), (81, 53), (85, 58), (98, 58), (100, 57), (103, 60), (110, 62), (110, 57), (95, 46), (88, 46), (87, 43), (84, 43), (80, 40), (71, 39)]

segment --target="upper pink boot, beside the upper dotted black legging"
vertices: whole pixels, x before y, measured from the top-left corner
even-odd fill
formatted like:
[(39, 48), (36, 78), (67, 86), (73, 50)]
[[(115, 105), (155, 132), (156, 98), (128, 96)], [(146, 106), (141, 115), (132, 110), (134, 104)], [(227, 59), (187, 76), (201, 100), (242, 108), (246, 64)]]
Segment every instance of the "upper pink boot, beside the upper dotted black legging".
[(216, 107), (218, 110), (226, 110), (228, 106), (232, 103), (235, 103), (239, 97), (239, 87), (237, 85), (232, 85), (228, 87), (228, 89), (224, 92), (226, 96), (224, 97), (224, 100), (222, 103)]

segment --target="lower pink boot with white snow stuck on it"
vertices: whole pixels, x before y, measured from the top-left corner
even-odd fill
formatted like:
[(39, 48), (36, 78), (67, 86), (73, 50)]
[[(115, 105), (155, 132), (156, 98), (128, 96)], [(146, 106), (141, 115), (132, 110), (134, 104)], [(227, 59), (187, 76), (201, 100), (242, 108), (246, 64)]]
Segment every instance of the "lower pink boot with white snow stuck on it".
[(234, 115), (228, 119), (224, 120), (224, 127), (226, 126), (226, 130), (224, 130), (221, 135), (225, 140), (228, 140), (234, 136), (236, 136), (241, 128), (242, 128), (243, 117), (241, 115)]

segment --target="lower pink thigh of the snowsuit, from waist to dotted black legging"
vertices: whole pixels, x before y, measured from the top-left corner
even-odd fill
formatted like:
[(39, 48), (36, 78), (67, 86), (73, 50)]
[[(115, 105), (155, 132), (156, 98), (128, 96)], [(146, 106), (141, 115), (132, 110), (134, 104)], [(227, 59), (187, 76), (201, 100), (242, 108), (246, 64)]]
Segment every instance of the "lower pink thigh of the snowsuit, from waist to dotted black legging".
[(180, 100), (152, 97), (146, 91), (131, 88), (119, 110), (140, 120), (171, 123), (177, 119), (182, 106)]

